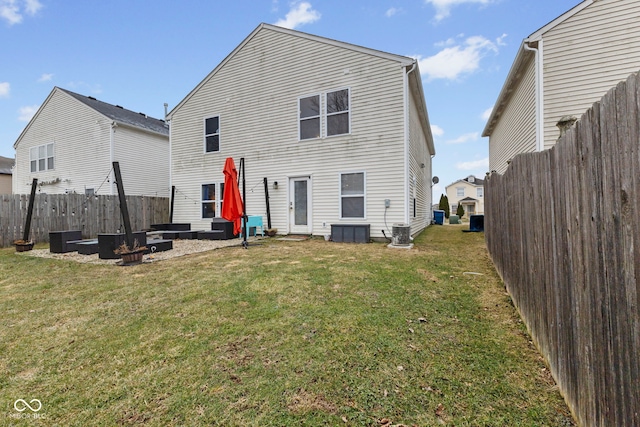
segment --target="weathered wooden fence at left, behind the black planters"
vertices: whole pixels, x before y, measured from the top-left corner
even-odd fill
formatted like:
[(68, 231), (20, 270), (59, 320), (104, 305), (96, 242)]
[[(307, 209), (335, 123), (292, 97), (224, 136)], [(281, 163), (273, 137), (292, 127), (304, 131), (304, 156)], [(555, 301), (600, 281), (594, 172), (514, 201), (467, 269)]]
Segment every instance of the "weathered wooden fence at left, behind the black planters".
[[(0, 247), (21, 239), (30, 195), (0, 195)], [(50, 231), (81, 230), (83, 238), (98, 233), (124, 232), (118, 196), (84, 194), (36, 194), (30, 238), (48, 242)], [(127, 207), (134, 230), (169, 220), (166, 197), (127, 196)]]

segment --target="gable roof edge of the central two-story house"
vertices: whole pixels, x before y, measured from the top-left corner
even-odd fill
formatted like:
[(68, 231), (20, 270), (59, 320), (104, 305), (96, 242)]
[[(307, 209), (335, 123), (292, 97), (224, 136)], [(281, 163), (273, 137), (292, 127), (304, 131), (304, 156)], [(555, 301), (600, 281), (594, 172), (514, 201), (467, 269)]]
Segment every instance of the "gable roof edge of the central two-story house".
[[(211, 80), (217, 73), (218, 71), (224, 67), (224, 65), (229, 62), (240, 50), (242, 50), (242, 48), (249, 43), (255, 36), (256, 34), (258, 34), (260, 31), (265, 31), (265, 30), (270, 30), (270, 31), (276, 31), (282, 34), (288, 34), (292, 37), (300, 37), (303, 39), (307, 39), (307, 40), (313, 40), (316, 41), (318, 43), (324, 43), (324, 44), (329, 44), (332, 46), (336, 46), (336, 47), (340, 47), (343, 49), (349, 49), (352, 50), (354, 52), (360, 52), (360, 53), (364, 53), (367, 55), (373, 55), (379, 58), (384, 58), (384, 59), (388, 59), (390, 61), (396, 61), (398, 62), (401, 66), (403, 67), (412, 67), (411, 71), (408, 72), (409, 75), (409, 88), (412, 91), (412, 93), (414, 93), (414, 96), (418, 102), (418, 111), (420, 114), (420, 122), (422, 123), (422, 126), (425, 127), (424, 131), (430, 135), (431, 134), (431, 128), (430, 126), (428, 126), (429, 124), (429, 115), (427, 112), (427, 106), (426, 106), (426, 101), (424, 98), (424, 90), (422, 88), (422, 78), (420, 77), (420, 70), (418, 69), (418, 61), (416, 61), (414, 58), (410, 58), (408, 56), (403, 56), (403, 55), (396, 55), (393, 53), (387, 53), (387, 52), (383, 52), (380, 50), (376, 50), (376, 49), (371, 49), (368, 47), (363, 47), (363, 46), (358, 46), (355, 44), (351, 44), (351, 43), (346, 43), (346, 42), (341, 42), (338, 40), (334, 40), (334, 39), (330, 39), (330, 38), (326, 38), (326, 37), (321, 37), (321, 36), (316, 36), (313, 34), (309, 34), (309, 33), (303, 33), (302, 31), (297, 31), (297, 30), (292, 30), (292, 29), (288, 29), (288, 28), (282, 28), (282, 27), (278, 27), (276, 25), (271, 25), (271, 24), (265, 24), (265, 23), (261, 23), (260, 25), (258, 25), (256, 27), (255, 30), (253, 30), (251, 32), (251, 34), (249, 34), (243, 41), (242, 43), (240, 43), (229, 55), (227, 55), (222, 62), (220, 62), (195, 88), (193, 88), (191, 90), (191, 92), (189, 92), (187, 94), (187, 96), (185, 96), (182, 101), (180, 101), (174, 108), (171, 109), (171, 111), (169, 111), (169, 113), (166, 115), (165, 120), (169, 121), (171, 120), (171, 118), (173, 117), (173, 115), (180, 109), (182, 108), (182, 106), (195, 94), (197, 93), (200, 88), (202, 88), (209, 80)], [(429, 147), (429, 151), (432, 155), (435, 155), (435, 146), (433, 144), (433, 138), (429, 138), (429, 141), (427, 141), (427, 145)]]

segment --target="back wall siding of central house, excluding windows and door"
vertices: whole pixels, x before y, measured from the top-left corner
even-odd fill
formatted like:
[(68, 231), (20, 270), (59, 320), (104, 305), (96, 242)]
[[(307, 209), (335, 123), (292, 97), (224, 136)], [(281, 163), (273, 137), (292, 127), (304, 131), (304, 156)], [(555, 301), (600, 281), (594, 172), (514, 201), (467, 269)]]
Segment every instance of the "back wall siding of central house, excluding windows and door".
[[(210, 227), (200, 220), (200, 186), (222, 181), (224, 161), (233, 157), (237, 167), (245, 159), (248, 214), (266, 215), (268, 179), (280, 233), (288, 231), (288, 178), (310, 176), (313, 234), (347, 222), (372, 224), (372, 237), (381, 237), (384, 199), (392, 200), (387, 223), (404, 222), (404, 78), (396, 61), (257, 31), (173, 112), (174, 221)], [(298, 98), (342, 88), (351, 91), (351, 133), (299, 141)], [(203, 118), (211, 115), (220, 116), (220, 152), (204, 154)], [(340, 173), (354, 171), (366, 172), (366, 218), (341, 220)]]

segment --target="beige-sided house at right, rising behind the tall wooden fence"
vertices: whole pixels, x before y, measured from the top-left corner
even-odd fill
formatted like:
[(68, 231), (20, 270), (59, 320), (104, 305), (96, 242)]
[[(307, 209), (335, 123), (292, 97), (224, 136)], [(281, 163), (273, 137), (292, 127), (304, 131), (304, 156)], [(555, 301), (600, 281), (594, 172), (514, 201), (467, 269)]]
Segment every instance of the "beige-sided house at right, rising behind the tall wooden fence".
[(558, 122), (579, 119), (640, 69), (640, 1), (585, 0), (527, 37), (483, 131), (489, 168), (552, 147)]

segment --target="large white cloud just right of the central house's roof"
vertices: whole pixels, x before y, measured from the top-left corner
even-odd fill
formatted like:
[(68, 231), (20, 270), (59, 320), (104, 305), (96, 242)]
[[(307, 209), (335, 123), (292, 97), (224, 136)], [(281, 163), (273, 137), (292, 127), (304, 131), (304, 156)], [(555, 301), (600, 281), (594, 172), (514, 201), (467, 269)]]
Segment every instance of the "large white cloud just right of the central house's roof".
[(498, 52), (497, 44), (482, 36), (472, 36), (457, 45), (446, 42), (447, 47), (428, 58), (417, 56), (420, 72), (428, 80), (456, 80), (480, 68), (480, 60), (490, 52)]

